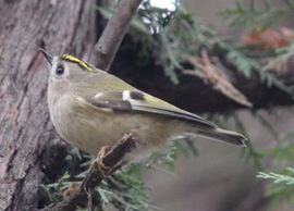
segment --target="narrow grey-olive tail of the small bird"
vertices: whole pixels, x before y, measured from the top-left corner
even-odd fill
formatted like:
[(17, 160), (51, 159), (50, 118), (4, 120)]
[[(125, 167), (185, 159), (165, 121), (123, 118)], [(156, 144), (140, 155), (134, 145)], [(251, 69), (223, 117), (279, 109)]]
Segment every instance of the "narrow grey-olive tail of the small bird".
[(241, 134), (221, 128), (200, 129), (197, 132), (197, 135), (238, 146), (245, 146), (245, 140), (247, 139)]

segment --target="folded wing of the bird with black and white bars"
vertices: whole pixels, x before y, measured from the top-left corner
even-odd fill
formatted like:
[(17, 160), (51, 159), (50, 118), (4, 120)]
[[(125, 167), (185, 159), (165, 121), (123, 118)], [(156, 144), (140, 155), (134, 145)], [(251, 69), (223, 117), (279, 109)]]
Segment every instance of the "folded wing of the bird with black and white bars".
[(198, 115), (181, 110), (163, 100), (138, 90), (103, 91), (94, 96), (78, 97), (78, 101), (102, 111), (134, 111), (197, 123), (204, 128), (216, 125)]

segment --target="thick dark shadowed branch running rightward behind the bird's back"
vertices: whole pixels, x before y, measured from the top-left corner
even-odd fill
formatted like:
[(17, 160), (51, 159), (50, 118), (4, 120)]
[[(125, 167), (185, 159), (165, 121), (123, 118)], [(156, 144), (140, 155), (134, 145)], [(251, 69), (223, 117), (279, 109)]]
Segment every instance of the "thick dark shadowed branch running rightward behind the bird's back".
[[(131, 44), (124, 45), (134, 45), (132, 39), (130, 40), (126, 41)], [(139, 61), (135, 50), (128, 50), (126, 53), (119, 52), (119, 57), (117, 57), (111, 67), (111, 74), (119, 76), (145, 92), (192, 112), (230, 113), (245, 108), (229, 99), (220, 91), (215, 90), (210, 85), (196, 76), (177, 72), (180, 84), (173, 84), (164, 75), (162, 67), (157, 65), (156, 59), (155, 61), (150, 61), (148, 65), (138, 65), (138, 63), (135, 63), (134, 61)], [(293, 69), (294, 60), (291, 60), (287, 64), (287, 71), (275, 74), (275, 76), (286, 86), (293, 86)], [(250, 78), (246, 78), (234, 66), (228, 65), (228, 70), (230, 71), (230, 76), (233, 78), (232, 84), (253, 103), (253, 110), (294, 104), (294, 100), (290, 94), (275, 86), (268, 87), (266, 83), (261, 83), (257, 71), (252, 73)]]

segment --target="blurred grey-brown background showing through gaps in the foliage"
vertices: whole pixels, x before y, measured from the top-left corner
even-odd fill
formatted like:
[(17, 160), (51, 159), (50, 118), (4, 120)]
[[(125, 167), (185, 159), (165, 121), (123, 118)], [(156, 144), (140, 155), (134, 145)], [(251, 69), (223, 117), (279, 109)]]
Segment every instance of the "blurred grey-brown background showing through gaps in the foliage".
[[(151, 1), (152, 2), (152, 1)], [(243, 5), (249, 5), (252, 1), (242, 1)], [(248, 32), (250, 26), (230, 27), (228, 22), (220, 17), (220, 12), (234, 8), (235, 0), (181, 0), (180, 3), (188, 11), (194, 12), (206, 24), (216, 29), (220, 35), (228, 36), (233, 40), (240, 40), (242, 34)], [(261, 3), (256, 1), (256, 3)], [(270, 1), (279, 7), (283, 2)], [(154, 1), (157, 5), (157, 2)], [(161, 4), (161, 3), (160, 3)], [(164, 8), (163, 5), (160, 5)], [(167, 3), (166, 3), (167, 5)], [(285, 21), (282, 26), (291, 27), (293, 22)], [(279, 27), (279, 26), (274, 26)], [(292, 70), (293, 71), (293, 70)], [(249, 111), (234, 111), (242, 120), (249, 134), (253, 145), (259, 149), (267, 149), (275, 146), (275, 137), (269, 128), (254, 117)], [(292, 108), (273, 108), (270, 110), (258, 110), (258, 115), (262, 116), (268, 124), (274, 127), (277, 133), (294, 128)], [(232, 127), (230, 117), (226, 127)], [(283, 141), (292, 141), (292, 138)], [(270, 198), (267, 198), (266, 181), (257, 178), (258, 167), (252, 162), (245, 162), (242, 158), (242, 150), (197, 139), (196, 147), (198, 156), (196, 158), (183, 158), (176, 160), (174, 169), (170, 174), (146, 170), (144, 178), (151, 187), (151, 195), (156, 199), (159, 208), (163, 210), (183, 211), (291, 211), (293, 202), (278, 200), (274, 206)], [(290, 149), (293, 153), (293, 149)], [(285, 156), (286, 157), (286, 156)], [(287, 162), (274, 162), (274, 158), (267, 157), (260, 159), (261, 165), (266, 170), (281, 170)], [(275, 160), (277, 161), (277, 160)], [(290, 161), (290, 163), (293, 163)], [(293, 165), (291, 165), (293, 166)]]

